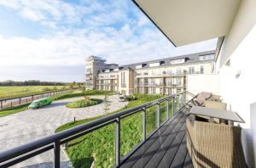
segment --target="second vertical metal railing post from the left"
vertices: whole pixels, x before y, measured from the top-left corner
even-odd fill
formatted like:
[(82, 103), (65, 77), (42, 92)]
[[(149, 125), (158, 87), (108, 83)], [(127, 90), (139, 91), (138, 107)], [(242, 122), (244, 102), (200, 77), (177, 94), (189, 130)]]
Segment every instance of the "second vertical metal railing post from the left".
[(120, 120), (115, 121), (115, 165), (120, 163)]

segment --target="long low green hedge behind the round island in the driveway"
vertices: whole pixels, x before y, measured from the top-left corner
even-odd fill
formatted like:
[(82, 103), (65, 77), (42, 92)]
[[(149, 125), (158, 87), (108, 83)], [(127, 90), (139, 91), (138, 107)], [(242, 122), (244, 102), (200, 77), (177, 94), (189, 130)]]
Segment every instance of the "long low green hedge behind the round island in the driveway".
[(67, 93), (55, 95), (51, 98), (53, 100), (60, 100), (60, 99), (64, 99), (64, 98), (75, 98), (75, 97), (82, 97), (82, 96), (85, 96), (85, 95), (102, 95), (102, 94), (112, 95), (112, 94), (114, 94), (114, 92), (99, 91), (99, 90), (87, 90), (87, 91), (84, 90), (82, 92), (76, 92), (76, 93), (67, 92)]

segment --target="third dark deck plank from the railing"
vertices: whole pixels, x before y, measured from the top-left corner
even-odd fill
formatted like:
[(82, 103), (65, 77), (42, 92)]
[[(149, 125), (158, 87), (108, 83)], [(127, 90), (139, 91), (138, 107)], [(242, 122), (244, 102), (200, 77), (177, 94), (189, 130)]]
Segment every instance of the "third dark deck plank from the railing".
[(166, 154), (168, 148), (170, 148), (173, 140), (177, 137), (178, 132), (183, 126), (185, 122), (185, 116), (183, 119), (180, 120), (179, 124), (169, 133), (169, 136), (166, 138), (166, 141), (160, 145), (160, 148), (156, 151), (154, 156), (148, 161), (148, 164), (145, 167), (156, 167), (159, 165), (160, 161), (162, 160), (163, 156)]

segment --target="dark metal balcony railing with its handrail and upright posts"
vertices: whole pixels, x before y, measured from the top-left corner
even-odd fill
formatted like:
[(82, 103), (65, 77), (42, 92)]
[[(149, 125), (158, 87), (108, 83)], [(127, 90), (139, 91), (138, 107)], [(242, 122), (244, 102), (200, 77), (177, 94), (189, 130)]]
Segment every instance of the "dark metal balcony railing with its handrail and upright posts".
[[(171, 96), (167, 96), (165, 98), (159, 98), (154, 101), (151, 101), (146, 104), (139, 105), (137, 107), (131, 108), (131, 109), (125, 109), (123, 111), (120, 111), (119, 113), (115, 113), (113, 115), (108, 115), (102, 119), (99, 120), (93, 120), (88, 123), (85, 123), (81, 126), (76, 126), (73, 128), (70, 128), (63, 132), (55, 133), (49, 137), (43, 137), (36, 141), (33, 141), (32, 143), (26, 143), (24, 145), (21, 145), (17, 148), (12, 148), (7, 151), (4, 151), (0, 153), (0, 167), (7, 167), (11, 165), (15, 165), (17, 163), (20, 163), (21, 161), (28, 160), (32, 158), (33, 156), (36, 156), (38, 154), (42, 154), (45, 151), (48, 151), (52, 148), (55, 149), (55, 167), (60, 167), (60, 146), (63, 143), (67, 143), (77, 137), (81, 137), (87, 133), (93, 132), (103, 126), (108, 126), (111, 123), (115, 123), (116, 126), (116, 138), (115, 138), (115, 164), (119, 165), (120, 163), (120, 120), (124, 119), (125, 117), (128, 117), (130, 115), (134, 115), (140, 111), (143, 112), (143, 140), (146, 141), (146, 109), (150, 108), (154, 105), (157, 105), (157, 120), (156, 125), (157, 127), (160, 127), (160, 103), (166, 102), (166, 121), (170, 119), (169, 117), (169, 101), (172, 99), (172, 114), (174, 114), (174, 104), (176, 101), (176, 97), (182, 96), (184, 97), (184, 94), (186, 94), (186, 91), (179, 92), (177, 94), (173, 94)], [(177, 101), (179, 101), (179, 98), (177, 98)], [(177, 102), (178, 107), (180, 107), (180, 103), (184, 104), (186, 100), (182, 99), (183, 102)]]

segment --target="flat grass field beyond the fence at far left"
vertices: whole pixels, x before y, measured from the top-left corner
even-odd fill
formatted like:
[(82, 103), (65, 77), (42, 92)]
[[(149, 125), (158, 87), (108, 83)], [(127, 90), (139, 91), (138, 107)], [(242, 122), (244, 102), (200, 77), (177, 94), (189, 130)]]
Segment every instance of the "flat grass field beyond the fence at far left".
[(14, 98), (41, 92), (50, 92), (67, 89), (68, 86), (26, 86), (26, 87), (0, 87), (0, 98)]

